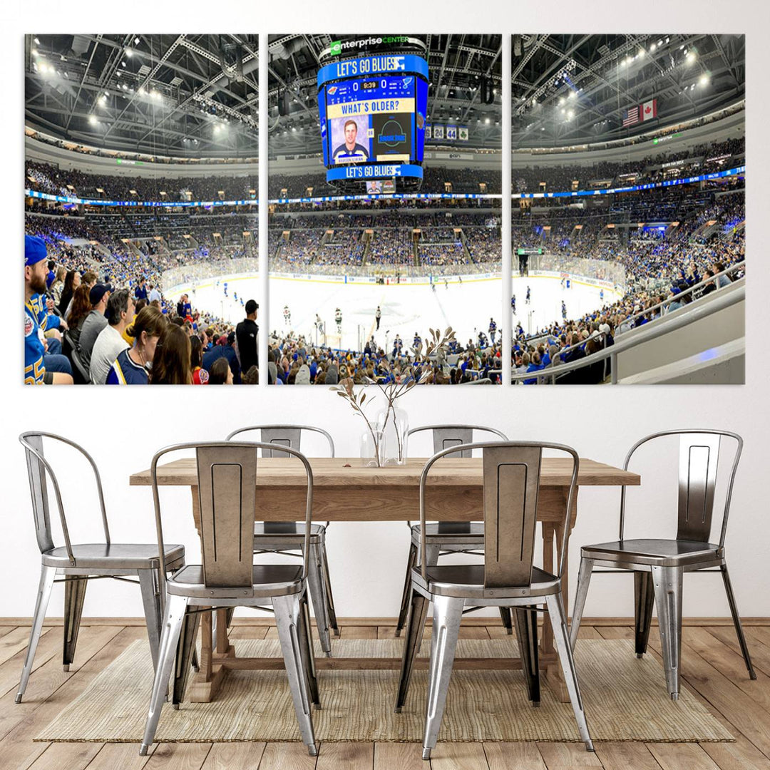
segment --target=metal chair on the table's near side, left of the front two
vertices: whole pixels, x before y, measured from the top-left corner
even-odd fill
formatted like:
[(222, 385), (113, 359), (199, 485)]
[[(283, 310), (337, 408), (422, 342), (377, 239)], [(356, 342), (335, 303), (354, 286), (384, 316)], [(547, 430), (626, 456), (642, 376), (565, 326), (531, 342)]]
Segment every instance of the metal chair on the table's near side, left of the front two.
[[(155, 738), (160, 710), (174, 668), (173, 708), (179, 708), (189, 675), (186, 665), (195, 642), (202, 611), (272, 604), (303, 742), (317, 754), (310, 702), (320, 707), (313, 663), (310, 614), (306, 600), (307, 555), (301, 567), (292, 564), (253, 564), (252, 537), (256, 509), (257, 450), (270, 444), (211, 441), (165, 447), (152, 458), (150, 474), (158, 545), (163, 552), (163, 527), (158, 492), (158, 461), (169, 452), (195, 450), (198, 469), (200, 535), (203, 564), (188, 565), (166, 581), (166, 611), (160, 656), (139, 754)], [(307, 503), (303, 553), (310, 552), (313, 471), (306, 457), (297, 457), (307, 474)], [(162, 561), (162, 560), (161, 560)], [(163, 566), (163, 565), (162, 565)], [(174, 667), (175, 654), (177, 665)]]

